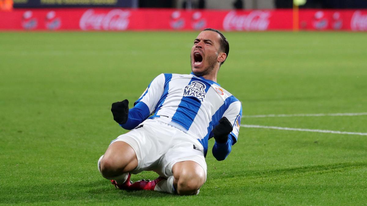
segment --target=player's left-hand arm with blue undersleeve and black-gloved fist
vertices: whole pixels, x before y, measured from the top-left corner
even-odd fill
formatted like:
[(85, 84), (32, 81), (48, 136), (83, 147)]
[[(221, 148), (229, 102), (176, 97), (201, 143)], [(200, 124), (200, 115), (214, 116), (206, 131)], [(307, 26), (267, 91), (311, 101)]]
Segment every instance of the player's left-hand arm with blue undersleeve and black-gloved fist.
[(134, 129), (155, 110), (163, 94), (165, 75), (160, 74), (145, 89), (140, 98), (134, 103), (134, 107), (128, 109), (128, 100), (112, 104), (113, 119), (124, 129)]

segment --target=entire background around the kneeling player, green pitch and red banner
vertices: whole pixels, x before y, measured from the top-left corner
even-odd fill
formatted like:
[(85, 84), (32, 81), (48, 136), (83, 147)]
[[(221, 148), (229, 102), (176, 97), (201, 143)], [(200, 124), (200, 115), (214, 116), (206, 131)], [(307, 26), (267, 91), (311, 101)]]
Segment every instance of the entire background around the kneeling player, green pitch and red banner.
[[(0, 205), (366, 205), (367, 0), (0, 0), (0, 8)], [(131, 108), (160, 73), (190, 73), (206, 27), (230, 43), (218, 83), (243, 107), (231, 154), (218, 162), (208, 151), (199, 196), (114, 190), (97, 170), (127, 132), (111, 103), (128, 99)]]

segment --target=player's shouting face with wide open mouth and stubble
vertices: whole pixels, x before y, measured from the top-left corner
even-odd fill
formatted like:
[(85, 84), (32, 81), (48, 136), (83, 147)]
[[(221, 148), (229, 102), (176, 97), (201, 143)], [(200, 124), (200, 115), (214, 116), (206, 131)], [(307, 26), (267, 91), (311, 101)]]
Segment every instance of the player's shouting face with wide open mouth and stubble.
[(218, 63), (220, 39), (221, 36), (213, 31), (203, 31), (196, 37), (190, 55), (194, 74), (204, 76), (212, 73)]

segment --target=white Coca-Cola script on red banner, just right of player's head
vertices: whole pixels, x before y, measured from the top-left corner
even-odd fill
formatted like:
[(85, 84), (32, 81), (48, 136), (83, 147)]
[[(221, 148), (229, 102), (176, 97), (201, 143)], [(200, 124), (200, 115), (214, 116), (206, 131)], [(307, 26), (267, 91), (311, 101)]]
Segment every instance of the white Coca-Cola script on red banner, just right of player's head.
[(237, 15), (236, 11), (230, 11), (224, 18), (223, 28), (229, 30), (258, 30), (264, 31), (269, 26), (270, 12), (252, 11), (250, 14)]

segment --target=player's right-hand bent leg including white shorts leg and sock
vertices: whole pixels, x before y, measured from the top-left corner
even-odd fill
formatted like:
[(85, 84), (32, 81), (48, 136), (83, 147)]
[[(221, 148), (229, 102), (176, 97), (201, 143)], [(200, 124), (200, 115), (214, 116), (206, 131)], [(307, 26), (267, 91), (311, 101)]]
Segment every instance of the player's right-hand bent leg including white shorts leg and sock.
[(173, 138), (172, 147), (155, 171), (167, 180), (157, 183), (154, 190), (179, 195), (198, 194), (206, 181), (204, 147), (181, 130), (176, 130)]

